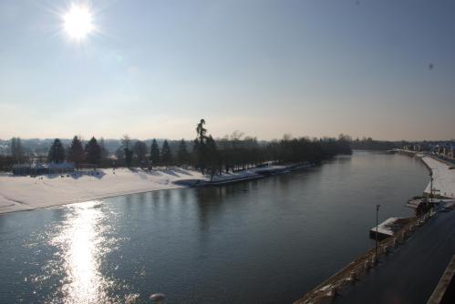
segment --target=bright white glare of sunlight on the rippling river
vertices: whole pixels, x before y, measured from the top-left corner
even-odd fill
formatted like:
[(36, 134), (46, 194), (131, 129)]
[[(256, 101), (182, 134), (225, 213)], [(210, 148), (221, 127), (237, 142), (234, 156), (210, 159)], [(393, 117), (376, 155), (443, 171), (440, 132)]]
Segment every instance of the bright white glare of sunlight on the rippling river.
[[(99, 303), (108, 299), (106, 289), (112, 284), (99, 271), (105, 250), (103, 230), (99, 225), (104, 214), (96, 208), (99, 201), (72, 205), (59, 233), (50, 244), (61, 252), (61, 296), (66, 303)], [(60, 297), (58, 297), (60, 298)], [(53, 302), (53, 299), (49, 299)]]

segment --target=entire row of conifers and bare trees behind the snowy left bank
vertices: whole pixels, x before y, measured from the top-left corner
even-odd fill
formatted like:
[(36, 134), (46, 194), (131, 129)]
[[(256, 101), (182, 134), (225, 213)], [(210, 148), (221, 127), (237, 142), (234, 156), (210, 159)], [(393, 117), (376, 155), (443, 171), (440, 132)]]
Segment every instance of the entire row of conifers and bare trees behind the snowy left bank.
[[(47, 162), (68, 161), (75, 167), (144, 167), (150, 170), (155, 166), (191, 166), (202, 174), (213, 176), (266, 163), (318, 163), (336, 154), (351, 153), (351, 142), (343, 135), (313, 139), (286, 135), (280, 140), (258, 141), (256, 137), (245, 137), (235, 131), (231, 136), (215, 139), (208, 133), (204, 119), (194, 130), (192, 141), (164, 140), (161, 145), (156, 139), (147, 145), (145, 141), (132, 140), (125, 135), (114, 153), (105, 147), (103, 138), (91, 137), (84, 142), (75, 136), (67, 147), (56, 138), (48, 150)], [(22, 153), (20, 138), (12, 139), (11, 149), (12, 160), (17, 163)]]

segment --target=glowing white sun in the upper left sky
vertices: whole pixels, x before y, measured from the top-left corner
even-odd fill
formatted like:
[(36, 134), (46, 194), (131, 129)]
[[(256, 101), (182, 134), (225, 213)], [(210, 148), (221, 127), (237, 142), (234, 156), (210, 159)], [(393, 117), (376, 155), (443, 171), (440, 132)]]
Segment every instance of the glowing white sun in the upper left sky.
[(67, 35), (77, 41), (85, 39), (95, 29), (87, 5), (71, 5), (63, 15), (63, 21)]

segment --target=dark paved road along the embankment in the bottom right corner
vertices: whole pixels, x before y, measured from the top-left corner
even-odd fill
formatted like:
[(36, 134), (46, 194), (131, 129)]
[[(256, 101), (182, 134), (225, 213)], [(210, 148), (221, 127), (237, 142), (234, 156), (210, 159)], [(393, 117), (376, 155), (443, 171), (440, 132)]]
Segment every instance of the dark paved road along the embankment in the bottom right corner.
[(455, 253), (455, 210), (440, 212), (335, 303), (426, 303)]

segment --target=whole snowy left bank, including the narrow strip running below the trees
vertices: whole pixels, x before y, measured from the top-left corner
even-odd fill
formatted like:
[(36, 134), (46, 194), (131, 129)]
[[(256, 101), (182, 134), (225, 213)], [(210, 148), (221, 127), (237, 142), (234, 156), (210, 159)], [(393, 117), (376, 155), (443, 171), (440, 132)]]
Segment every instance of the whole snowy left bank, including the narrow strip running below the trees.
[(170, 190), (183, 187), (219, 187), (270, 177), (311, 167), (309, 163), (287, 166), (253, 167), (235, 173), (213, 176), (212, 181), (199, 171), (170, 167), (152, 171), (138, 168), (75, 171), (38, 177), (0, 174), (0, 216), (52, 208), (90, 200)]

